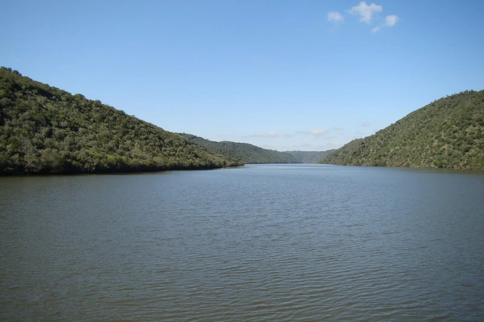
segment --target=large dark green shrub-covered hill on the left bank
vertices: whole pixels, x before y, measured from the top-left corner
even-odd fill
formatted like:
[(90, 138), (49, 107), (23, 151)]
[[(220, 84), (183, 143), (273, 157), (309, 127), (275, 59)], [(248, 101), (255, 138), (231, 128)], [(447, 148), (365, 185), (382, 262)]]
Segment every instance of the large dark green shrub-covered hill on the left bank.
[(100, 101), (5, 67), (0, 108), (0, 175), (242, 165)]

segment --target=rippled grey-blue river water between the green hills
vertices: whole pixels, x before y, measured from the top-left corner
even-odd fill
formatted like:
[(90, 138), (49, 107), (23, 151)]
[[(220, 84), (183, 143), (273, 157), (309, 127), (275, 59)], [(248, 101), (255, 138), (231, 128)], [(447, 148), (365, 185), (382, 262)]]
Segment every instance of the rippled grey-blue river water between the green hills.
[(0, 320), (483, 319), (484, 172), (0, 177)]

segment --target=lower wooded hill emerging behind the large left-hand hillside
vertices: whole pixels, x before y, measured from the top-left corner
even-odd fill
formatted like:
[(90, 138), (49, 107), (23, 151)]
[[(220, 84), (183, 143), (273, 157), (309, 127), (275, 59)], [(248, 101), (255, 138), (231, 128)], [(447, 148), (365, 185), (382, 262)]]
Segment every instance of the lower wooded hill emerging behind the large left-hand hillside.
[(248, 143), (215, 142), (192, 134), (179, 134), (200, 146), (244, 163), (301, 163), (288, 153), (264, 149)]

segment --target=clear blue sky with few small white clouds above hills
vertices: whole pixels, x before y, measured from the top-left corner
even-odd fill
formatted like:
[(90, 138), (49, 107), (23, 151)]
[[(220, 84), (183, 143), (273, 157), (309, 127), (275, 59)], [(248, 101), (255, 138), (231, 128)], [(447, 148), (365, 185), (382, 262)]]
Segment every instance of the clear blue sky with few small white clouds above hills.
[(326, 150), (484, 89), (484, 1), (0, 1), (0, 65), (167, 131)]

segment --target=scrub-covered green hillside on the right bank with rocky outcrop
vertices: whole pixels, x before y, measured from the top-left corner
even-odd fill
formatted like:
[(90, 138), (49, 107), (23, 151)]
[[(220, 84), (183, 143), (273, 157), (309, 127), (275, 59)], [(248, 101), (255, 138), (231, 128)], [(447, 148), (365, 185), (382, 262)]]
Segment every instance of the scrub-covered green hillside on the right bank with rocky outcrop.
[(430, 103), (320, 163), (484, 169), (484, 90)]

